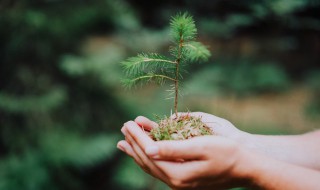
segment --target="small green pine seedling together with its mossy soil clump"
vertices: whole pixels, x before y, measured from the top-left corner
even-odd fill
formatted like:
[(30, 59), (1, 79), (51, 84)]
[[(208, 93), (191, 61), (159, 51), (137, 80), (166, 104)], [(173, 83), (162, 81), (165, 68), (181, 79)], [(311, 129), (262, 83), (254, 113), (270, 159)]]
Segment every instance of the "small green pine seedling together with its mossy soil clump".
[[(127, 78), (123, 81), (127, 87), (137, 84), (171, 82), (174, 98), (175, 119), (166, 118), (159, 121), (159, 127), (151, 131), (155, 140), (187, 139), (192, 136), (212, 134), (199, 118), (178, 117), (178, 98), (180, 82), (187, 64), (206, 61), (210, 51), (196, 41), (197, 28), (188, 13), (178, 13), (170, 21), (172, 46), (169, 48), (171, 58), (157, 53), (141, 53), (122, 62)], [(182, 129), (188, 126), (187, 129)], [(198, 130), (199, 128), (199, 130)], [(200, 132), (198, 132), (200, 131)], [(204, 131), (203, 133), (201, 131)]]

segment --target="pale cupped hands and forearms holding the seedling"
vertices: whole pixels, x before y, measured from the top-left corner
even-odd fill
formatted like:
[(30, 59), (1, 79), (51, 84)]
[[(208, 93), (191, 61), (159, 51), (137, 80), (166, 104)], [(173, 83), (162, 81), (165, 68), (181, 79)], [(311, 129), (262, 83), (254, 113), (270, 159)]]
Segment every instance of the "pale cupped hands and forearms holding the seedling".
[(146, 132), (157, 124), (139, 116), (124, 124), (118, 148), (173, 189), (320, 189), (320, 131), (253, 135), (210, 114), (189, 114), (216, 135), (154, 142)]

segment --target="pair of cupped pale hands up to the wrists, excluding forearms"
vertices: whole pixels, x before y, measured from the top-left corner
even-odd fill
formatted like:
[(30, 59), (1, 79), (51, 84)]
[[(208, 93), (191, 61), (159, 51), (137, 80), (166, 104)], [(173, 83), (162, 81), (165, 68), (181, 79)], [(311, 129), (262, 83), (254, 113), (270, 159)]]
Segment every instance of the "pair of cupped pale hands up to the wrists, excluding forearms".
[(225, 119), (200, 112), (188, 114), (201, 117), (216, 135), (155, 142), (147, 132), (157, 124), (139, 116), (122, 127), (125, 140), (118, 148), (174, 189), (230, 188), (245, 183), (241, 167), (246, 149), (237, 142), (246, 134)]

